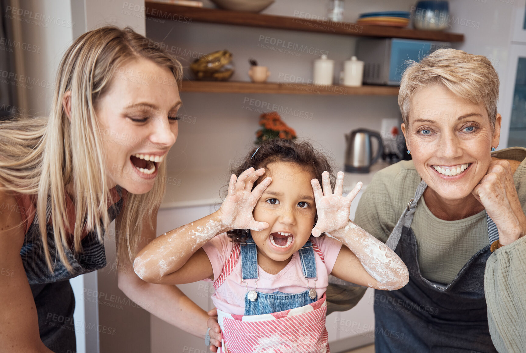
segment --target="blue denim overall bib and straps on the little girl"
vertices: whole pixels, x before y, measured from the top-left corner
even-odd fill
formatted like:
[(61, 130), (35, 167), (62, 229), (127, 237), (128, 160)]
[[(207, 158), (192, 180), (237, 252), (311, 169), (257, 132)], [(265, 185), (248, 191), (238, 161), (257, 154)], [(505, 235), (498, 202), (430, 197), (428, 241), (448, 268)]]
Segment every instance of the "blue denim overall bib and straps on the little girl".
[[(256, 291), (259, 276), (258, 252), (254, 239), (249, 236), (246, 240), (246, 244), (241, 244), (240, 251), (242, 279), (248, 291), (245, 295), (245, 315), (271, 314), (272, 312), (299, 308), (318, 300), (318, 295), (316, 294), (315, 289), (316, 280), (318, 279), (316, 273), (316, 259), (314, 257), (314, 251), (312, 250), (312, 243), (310, 240), (298, 250), (301, 260), (301, 269), (309, 289), (297, 294), (286, 294), (280, 291), (267, 294)], [(312, 288), (309, 286), (308, 278), (315, 278)], [(254, 290), (248, 289), (247, 279), (256, 279), (256, 281), (254, 281), (256, 287)]]

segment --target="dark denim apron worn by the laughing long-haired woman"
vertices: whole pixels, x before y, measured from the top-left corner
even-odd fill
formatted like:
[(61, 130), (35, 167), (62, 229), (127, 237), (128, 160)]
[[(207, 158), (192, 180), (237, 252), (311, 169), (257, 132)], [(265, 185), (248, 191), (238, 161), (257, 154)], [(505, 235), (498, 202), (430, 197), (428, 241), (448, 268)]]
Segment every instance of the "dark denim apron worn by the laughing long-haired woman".
[[(122, 188), (116, 186), (120, 199), (109, 207), (108, 216), (114, 220), (124, 205)], [(46, 219), (51, 216), (51, 198), (47, 198)], [(53, 237), (53, 225), (48, 224), (47, 245), (51, 263), (54, 264), (53, 273), (49, 271), (42, 236), (39, 230), (38, 214), (25, 235), (24, 245), (20, 251), (38, 314), (38, 330), (40, 338), (47, 348), (55, 353), (76, 351), (75, 326), (73, 311), (75, 310), (75, 296), (69, 284), (69, 279), (83, 275), (106, 266), (104, 244), (100, 244), (95, 231), (88, 233), (80, 242), (83, 253), (64, 249), (73, 271), (69, 272), (58, 257)], [(57, 319), (58, 318), (58, 319)]]

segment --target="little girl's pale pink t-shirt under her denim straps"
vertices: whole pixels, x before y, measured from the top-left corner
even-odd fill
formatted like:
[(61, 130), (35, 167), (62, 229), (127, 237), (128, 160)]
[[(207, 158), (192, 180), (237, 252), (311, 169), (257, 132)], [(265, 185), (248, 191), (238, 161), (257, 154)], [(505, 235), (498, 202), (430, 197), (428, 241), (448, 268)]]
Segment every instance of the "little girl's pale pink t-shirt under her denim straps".
[[(328, 276), (332, 272), (332, 267), (334, 267), (342, 244), (338, 240), (327, 236), (320, 238), (310, 237), (310, 240), (319, 247), (324, 257), (323, 260), (325, 260), (325, 263), (323, 263), (321, 257), (314, 251), (318, 275), (316, 292), (318, 293), (319, 299), (327, 290), (327, 286), (329, 285)], [(206, 255), (208, 255), (214, 270), (214, 280), (219, 278), (235, 245), (235, 243), (230, 241), (226, 233), (215, 236), (203, 245), (203, 250), (205, 250)], [(281, 291), (282, 293), (296, 294), (308, 289), (307, 280), (301, 270), (298, 251), (292, 255), (290, 262), (284, 269), (279, 271), (278, 274), (271, 275), (258, 265), (258, 275), (257, 291), (261, 293)], [(208, 279), (208, 281), (211, 280)], [(254, 279), (247, 280), (248, 290), (255, 288), (254, 281)], [(309, 287), (313, 288), (314, 286), (314, 279), (309, 279)], [(214, 291), (212, 301), (219, 310), (228, 312), (229, 314), (244, 315), (246, 294), (247, 289), (245, 288), (245, 284), (242, 283), (241, 276), (241, 257), (239, 257), (230, 275), (227, 276), (225, 281)]]

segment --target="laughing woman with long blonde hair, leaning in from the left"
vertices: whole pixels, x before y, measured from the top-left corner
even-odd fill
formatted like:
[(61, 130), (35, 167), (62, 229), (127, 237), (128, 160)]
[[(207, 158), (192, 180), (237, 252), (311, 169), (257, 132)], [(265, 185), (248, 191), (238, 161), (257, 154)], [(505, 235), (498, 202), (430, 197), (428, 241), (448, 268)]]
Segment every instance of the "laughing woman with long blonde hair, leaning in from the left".
[(68, 279), (106, 265), (113, 219), (119, 288), (204, 336), (206, 312), (175, 286), (140, 280), (130, 262), (156, 236), (180, 79), (149, 39), (103, 27), (64, 55), (49, 117), (0, 123), (0, 351), (76, 350)]

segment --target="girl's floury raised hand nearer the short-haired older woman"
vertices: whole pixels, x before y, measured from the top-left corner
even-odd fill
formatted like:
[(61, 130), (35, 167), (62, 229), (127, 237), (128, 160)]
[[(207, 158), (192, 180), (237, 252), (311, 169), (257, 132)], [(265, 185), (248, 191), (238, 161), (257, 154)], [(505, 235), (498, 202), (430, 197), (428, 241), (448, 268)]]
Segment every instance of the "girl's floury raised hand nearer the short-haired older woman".
[(314, 191), (316, 212), (318, 213), (318, 221), (316, 227), (312, 229), (312, 235), (319, 237), (322, 233), (330, 233), (347, 226), (351, 212), (351, 201), (358, 195), (363, 185), (361, 181), (345, 197), (342, 195), (343, 172), (338, 172), (334, 194), (330, 186), (328, 172), (321, 174), (323, 189), (320, 187), (318, 179), (312, 179), (310, 183)]

